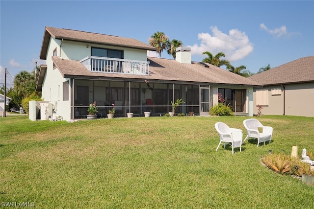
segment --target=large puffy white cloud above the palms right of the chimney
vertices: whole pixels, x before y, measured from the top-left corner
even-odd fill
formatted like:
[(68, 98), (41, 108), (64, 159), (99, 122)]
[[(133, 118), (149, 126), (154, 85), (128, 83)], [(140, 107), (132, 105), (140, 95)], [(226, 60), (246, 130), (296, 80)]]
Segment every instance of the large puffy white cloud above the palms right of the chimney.
[[(201, 44), (194, 44), (191, 47), (193, 55), (202, 54), (204, 51), (209, 51), (213, 55), (218, 52), (225, 53), (229, 61), (243, 59), (253, 51), (253, 44), (250, 42), (245, 32), (238, 29), (229, 30), (229, 34), (225, 34), (218, 30), (217, 26), (210, 27), (212, 35), (209, 33), (199, 33), (198, 39)], [(205, 55), (204, 55), (205, 57)]]

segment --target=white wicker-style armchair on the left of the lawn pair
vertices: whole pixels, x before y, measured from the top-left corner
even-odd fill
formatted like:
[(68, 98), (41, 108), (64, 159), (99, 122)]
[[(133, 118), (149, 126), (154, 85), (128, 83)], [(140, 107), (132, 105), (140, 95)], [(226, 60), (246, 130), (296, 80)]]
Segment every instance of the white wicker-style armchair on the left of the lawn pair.
[(243, 134), (241, 129), (229, 128), (229, 126), (223, 122), (216, 122), (215, 128), (220, 137), (220, 142), (216, 151), (218, 150), (220, 144), (224, 142), (224, 148), (226, 147), (226, 143), (232, 146), (232, 154), (234, 154), (235, 147), (240, 147), (240, 152), (242, 152), (241, 145)]

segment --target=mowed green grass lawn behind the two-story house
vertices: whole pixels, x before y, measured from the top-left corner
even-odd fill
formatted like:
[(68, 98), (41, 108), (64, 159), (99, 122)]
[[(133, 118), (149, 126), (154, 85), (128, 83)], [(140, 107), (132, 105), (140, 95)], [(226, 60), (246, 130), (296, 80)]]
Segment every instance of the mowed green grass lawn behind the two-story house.
[(242, 116), (30, 121), (0, 118), (0, 202), (36, 208), (314, 208), (314, 186), (261, 164), (263, 155), (314, 150), (314, 118), (263, 116), (272, 142), (215, 151), (217, 121)]

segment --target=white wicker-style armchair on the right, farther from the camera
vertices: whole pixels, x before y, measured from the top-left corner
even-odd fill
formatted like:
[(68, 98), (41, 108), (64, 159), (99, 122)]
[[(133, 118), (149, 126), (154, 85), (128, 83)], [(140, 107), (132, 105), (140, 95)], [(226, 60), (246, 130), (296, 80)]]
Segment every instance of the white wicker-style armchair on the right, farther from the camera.
[[(243, 140), (243, 142), (248, 138), (257, 139), (257, 147), (259, 147), (259, 144), (261, 142), (264, 142), (264, 145), (265, 145), (265, 142), (267, 140), (269, 140), (269, 143), (270, 143), (271, 136), (273, 134), (273, 128), (272, 127), (263, 126), (262, 123), (258, 119), (255, 119), (255, 118), (245, 119), (243, 121), (243, 125), (247, 131), (247, 136)], [(262, 133), (260, 133), (258, 128), (261, 128)]]

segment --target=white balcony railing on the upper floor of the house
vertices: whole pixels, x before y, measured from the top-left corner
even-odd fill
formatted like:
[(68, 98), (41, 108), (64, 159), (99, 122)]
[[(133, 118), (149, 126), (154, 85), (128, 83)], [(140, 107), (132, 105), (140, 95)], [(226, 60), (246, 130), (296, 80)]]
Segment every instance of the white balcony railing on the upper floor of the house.
[(92, 72), (148, 75), (149, 62), (88, 56), (80, 60)]

